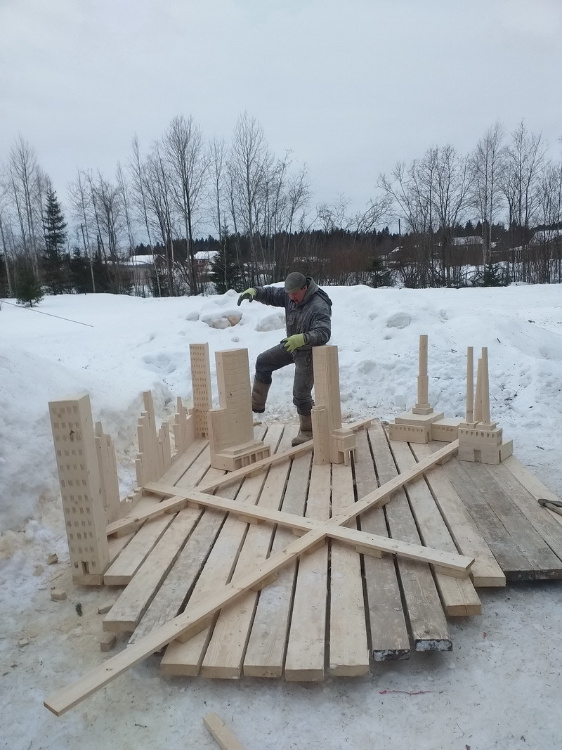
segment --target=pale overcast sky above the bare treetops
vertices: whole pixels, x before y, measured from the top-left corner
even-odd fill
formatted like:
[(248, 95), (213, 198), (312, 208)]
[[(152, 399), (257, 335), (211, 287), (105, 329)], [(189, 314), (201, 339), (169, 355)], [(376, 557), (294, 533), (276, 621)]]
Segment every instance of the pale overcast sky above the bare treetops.
[(432, 145), (524, 119), (558, 158), (561, 0), (0, 0), (0, 162), (21, 133), (64, 202), (177, 114), (229, 139), (247, 111), (357, 209)]

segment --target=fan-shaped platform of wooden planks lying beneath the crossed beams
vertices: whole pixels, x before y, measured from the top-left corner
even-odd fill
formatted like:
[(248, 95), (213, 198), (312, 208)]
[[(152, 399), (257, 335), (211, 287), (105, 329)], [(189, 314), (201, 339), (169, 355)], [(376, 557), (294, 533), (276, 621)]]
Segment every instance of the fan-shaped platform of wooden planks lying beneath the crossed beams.
[[(278, 424), (256, 428), (256, 439), (271, 446), (272, 458), (290, 454), (293, 434)], [(342, 517), (443, 447), (390, 441), (373, 422), (357, 432), (350, 466), (315, 465), (308, 449), (268, 460), (246, 478), (232, 472), (227, 481), (228, 474), (211, 469), (208, 446), (199, 444), (181, 471), (175, 466), (154, 484), (177, 487), (178, 496), (164, 500), (169, 512), (140, 519), (133, 532), (123, 526), (130, 539), (122, 549), (115, 546), (106, 582), (127, 586), (107, 613), (104, 630), (130, 632), (128, 648), (140, 647), (158, 628), (294, 545), (297, 524), (291, 532), (281, 514), (317, 522)], [(342, 526), (469, 556), (470, 577), (453, 577), (438, 564), (399, 554), (374, 556), (376, 550), (349, 544), (345, 534), (325, 538), (311, 524), (309, 534), (318, 535), (318, 544), (164, 644), (161, 670), (305, 682), (359, 676), (377, 661), (408, 658), (412, 650), (449, 651), (448, 620), (480, 614), (477, 587), (562, 578), (562, 525), (538, 504), (542, 487), (514, 457), (500, 466), (453, 457)], [(217, 501), (255, 506), (256, 513), (196, 507), (185, 490), (198, 488), (216, 493)], [(154, 493), (150, 497), (154, 507)]]

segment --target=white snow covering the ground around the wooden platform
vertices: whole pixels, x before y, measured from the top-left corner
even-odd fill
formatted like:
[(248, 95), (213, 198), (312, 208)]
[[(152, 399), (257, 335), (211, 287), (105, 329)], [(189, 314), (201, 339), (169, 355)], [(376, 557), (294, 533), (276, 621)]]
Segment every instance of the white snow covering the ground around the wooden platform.
[[(559, 286), (327, 291), (345, 421), (393, 419), (412, 406), (420, 334), (429, 335), (432, 405), (462, 416), (466, 347), (475, 355), (488, 347), (492, 418), (517, 458), (562, 497)], [(90, 393), (127, 493), (142, 391), (167, 419), (176, 395), (190, 401), (190, 343), (208, 341), (215, 379), (215, 351), (247, 347), (253, 363), (283, 337), (280, 311), (237, 300), (231, 290), (46, 297), (31, 310), (1, 303), (0, 746), (205, 750), (217, 747), (202, 723), (214, 711), (248, 750), (560, 748), (559, 582), (481, 590), (482, 616), (451, 621), (452, 653), (381, 662), (363, 678), (171, 679), (151, 658), (60, 718), (43, 708), (47, 695), (108, 658), (97, 607), (116, 596), (70, 579), (47, 403)], [(265, 419), (296, 428), (291, 386), (289, 368), (274, 376)], [(59, 562), (47, 565), (53, 552)], [(51, 601), (52, 586), (67, 600)]]

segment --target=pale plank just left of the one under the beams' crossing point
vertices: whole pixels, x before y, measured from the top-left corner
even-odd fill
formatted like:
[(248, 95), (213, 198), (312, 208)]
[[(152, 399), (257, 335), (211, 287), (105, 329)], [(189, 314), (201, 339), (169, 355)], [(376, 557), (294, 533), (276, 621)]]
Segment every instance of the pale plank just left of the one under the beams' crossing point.
[[(300, 514), (302, 517), (311, 463), (310, 452), (293, 460), (282, 500), (283, 512)], [(293, 540), (291, 532), (277, 527), (271, 554), (280, 553)], [(285, 570), (280, 571), (277, 580), (271, 586), (259, 593), (250, 640), (244, 656), (245, 676), (282, 676), (296, 574), (297, 562), (294, 560)]]

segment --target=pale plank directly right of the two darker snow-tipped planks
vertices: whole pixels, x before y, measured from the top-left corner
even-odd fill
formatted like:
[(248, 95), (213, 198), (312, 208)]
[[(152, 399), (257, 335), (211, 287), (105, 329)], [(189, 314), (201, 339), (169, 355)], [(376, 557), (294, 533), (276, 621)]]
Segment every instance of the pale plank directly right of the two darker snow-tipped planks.
[[(399, 471), (410, 469), (416, 463), (408, 443), (391, 440), (390, 450), (398, 464)], [(440, 550), (453, 554), (456, 553), (455, 543), (438, 506), (435, 505), (435, 500), (425, 479), (422, 477), (408, 484), (406, 494), (423, 544), (438, 547)], [(442, 574), (440, 570), (441, 568), (435, 565), (435, 583), (447, 616), (481, 614), (482, 604), (470, 578), (453, 578), (450, 575)]]

